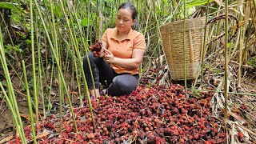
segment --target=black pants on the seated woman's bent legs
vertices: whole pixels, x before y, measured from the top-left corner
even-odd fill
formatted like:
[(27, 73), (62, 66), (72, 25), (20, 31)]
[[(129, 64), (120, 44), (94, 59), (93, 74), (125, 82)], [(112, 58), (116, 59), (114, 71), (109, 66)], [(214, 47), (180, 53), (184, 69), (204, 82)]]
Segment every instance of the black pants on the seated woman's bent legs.
[[(130, 94), (138, 86), (138, 74), (117, 74), (103, 58), (96, 57), (88, 53), (92, 74), (94, 76), (95, 88), (99, 88), (99, 82), (108, 87), (108, 94), (111, 96), (120, 96)], [(87, 86), (90, 90), (94, 89), (90, 68), (86, 55), (83, 58), (83, 70), (86, 75)]]

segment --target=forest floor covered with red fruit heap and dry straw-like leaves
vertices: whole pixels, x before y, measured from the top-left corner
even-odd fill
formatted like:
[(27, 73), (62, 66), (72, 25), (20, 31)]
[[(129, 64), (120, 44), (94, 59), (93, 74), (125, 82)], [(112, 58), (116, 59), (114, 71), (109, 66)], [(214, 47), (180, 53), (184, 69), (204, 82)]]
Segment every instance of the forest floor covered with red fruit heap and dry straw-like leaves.
[[(244, 74), (240, 92), (256, 94), (254, 75), (253, 71)], [(209, 78), (206, 76), (204, 78), (207, 84), (205, 88), (199, 87), (199, 89), (223, 91), (222, 81), (219, 77)], [(232, 83), (236, 83), (234, 81), (236, 80), (230, 78), (230, 87), (233, 86)], [(193, 81), (187, 82), (189, 91), (185, 92), (182, 86), (183, 81), (170, 81), (170, 74), (165, 68), (148, 70), (142, 74), (140, 82), (138, 89), (126, 97), (102, 96), (98, 102), (93, 102), (96, 127), (92, 125), (88, 102), (85, 100), (81, 107), (79, 98), (73, 95), (71, 99), (78, 121), (78, 134), (74, 133), (74, 121), (66, 103), (66, 106), (63, 106), (62, 137), (59, 137), (58, 100), (56, 99), (51, 114), (48, 114), (46, 118), (41, 118), (42, 121), (37, 130), (38, 142), (255, 142), (255, 96), (229, 94), (230, 109), (228, 110), (226, 129), (224, 129), (222, 121), (224, 97), (222, 93), (191, 90)], [(57, 95), (55, 94), (53, 98), (56, 98)], [(25, 96), (19, 94), (17, 101), (26, 126), (26, 136), (31, 142), (30, 118)], [(20, 142), (18, 138), (14, 138), (10, 111), (3, 99), (0, 113), (0, 143)], [(41, 116), (43, 115), (41, 105), (39, 113)], [(190, 122), (190, 119), (193, 121)]]

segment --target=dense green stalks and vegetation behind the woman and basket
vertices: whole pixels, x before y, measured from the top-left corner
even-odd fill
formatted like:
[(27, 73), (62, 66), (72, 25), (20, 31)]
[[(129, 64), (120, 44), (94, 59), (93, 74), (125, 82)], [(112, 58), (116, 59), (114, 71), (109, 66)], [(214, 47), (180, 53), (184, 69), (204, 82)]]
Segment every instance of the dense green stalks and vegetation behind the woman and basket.
[[(54, 106), (58, 106), (59, 114), (62, 115), (63, 104), (69, 105), (70, 115), (73, 115), (74, 132), (78, 131), (72, 100), (74, 97), (79, 98), (78, 103), (82, 107), (85, 105), (86, 96), (89, 96), (82, 71), (82, 56), (86, 55), (96, 39), (101, 38), (106, 28), (114, 27), (115, 14), (122, 2), (125, 1), (0, 1), (0, 86), (2, 90), (0, 99), (4, 100), (11, 110), (14, 124), (21, 138), (25, 138), (26, 134), (22, 129), (23, 122), (16, 100), (18, 97), (27, 98), (30, 123), (34, 123), (32, 116), (34, 110), (37, 129), (39, 121), (53, 113)], [(142, 63), (142, 76), (149, 74), (152, 67), (161, 70), (166, 66), (166, 62), (162, 60), (164, 52), (161, 26), (184, 19), (184, 15), (186, 19), (206, 16), (206, 21), (210, 21), (220, 18), (218, 17), (220, 14), (225, 14), (225, 3), (221, 1), (137, 0), (133, 2), (138, 9), (138, 22), (135, 29), (145, 35), (147, 43)], [(223, 78), (224, 48), (226, 48), (226, 62), (235, 63), (229, 66), (228, 89), (236, 93), (246, 93), (248, 92), (246, 90), (250, 89), (245, 89), (241, 83), (242, 75), (245, 75), (246, 71), (255, 74), (256, 4), (251, 0), (229, 1), (228, 5), (229, 14), (234, 16), (228, 22), (228, 26), (225, 25), (225, 17), (208, 25), (209, 33), (205, 36), (205, 51), (202, 53), (205, 63), (202, 65), (201, 73), (202, 77), (207, 77), (201, 78), (201, 85), (195, 81), (196, 87), (193, 88), (200, 86), (202, 89), (202, 85), (209, 85), (210, 79), (215, 82), (217, 77)], [(226, 34), (228, 41), (224, 36), (225, 30), (229, 32)], [(159, 78), (159, 74), (154, 76), (156, 79)], [(147, 86), (153, 85), (154, 82), (147, 83)], [(222, 84), (214, 86), (219, 86), (220, 89)], [(197, 94), (198, 91), (190, 96)], [(86, 104), (90, 107), (92, 105), (90, 101)], [(42, 106), (42, 114), (39, 114), (40, 106)], [(209, 107), (206, 108), (208, 110)], [(90, 114), (93, 113), (92, 109), (89, 111)], [(97, 121), (97, 117), (95, 120)], [(94, 117), (92, 121), (94, 122)], [(59, 122), (62, 123), (62, 117)], [(31, 126), (32, 131), (33, 127)], [(62, 124), (59, 128), (62, 129)], [(25, 139), (22, 139), (22, 142), (25, 142)], [(174, 141), (170, 140), (170, 142)]]

